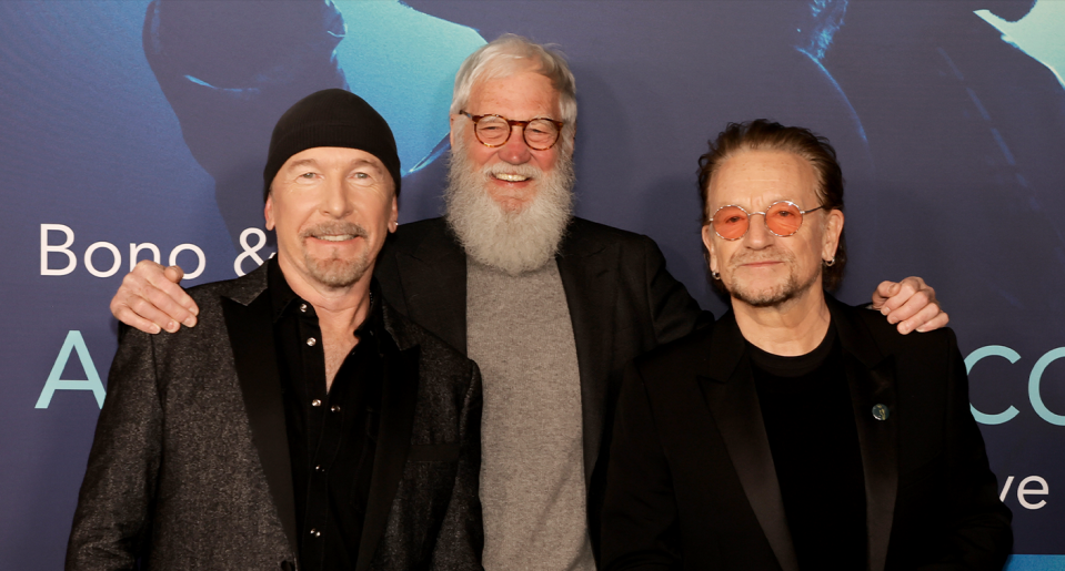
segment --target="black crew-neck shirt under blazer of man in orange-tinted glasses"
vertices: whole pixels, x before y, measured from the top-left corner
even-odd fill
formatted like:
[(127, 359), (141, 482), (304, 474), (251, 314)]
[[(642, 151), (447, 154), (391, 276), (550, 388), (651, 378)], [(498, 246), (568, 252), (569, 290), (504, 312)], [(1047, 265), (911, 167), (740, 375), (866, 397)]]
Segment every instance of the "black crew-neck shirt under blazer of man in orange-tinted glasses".
[(787, 526), (803, 570), (867, 568), (865, 482), (835, 327), (806, 355), (747, 344)]

